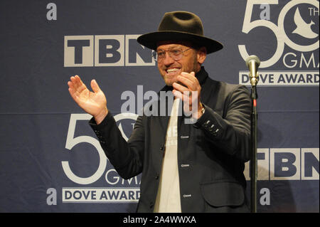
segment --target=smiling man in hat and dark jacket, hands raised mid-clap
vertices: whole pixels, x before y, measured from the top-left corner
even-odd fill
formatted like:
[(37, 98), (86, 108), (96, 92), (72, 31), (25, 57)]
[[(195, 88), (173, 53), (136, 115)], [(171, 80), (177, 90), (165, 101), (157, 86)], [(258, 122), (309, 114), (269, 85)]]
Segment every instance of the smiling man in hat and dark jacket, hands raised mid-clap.
[[(164, 14), (159, 30), (137, 41), (156, 51), (166, 83), (161, 91), (177, 98), (170, 115), (139, 116), (128, 142), (96, 81), (93, 93), (78, 75), (68, 82), (75, 102), (93, 116), (90, 125), (119, 175), (142, 173), (137, 211), (249, 211), (243, 170), (250, 159), (250, 95), (244, 86), (210, 79), (201, 66), (223, 46), (203, 36), (201, 19), (186, 11)], [(193, 123), (178, 115), (179, 100)]]

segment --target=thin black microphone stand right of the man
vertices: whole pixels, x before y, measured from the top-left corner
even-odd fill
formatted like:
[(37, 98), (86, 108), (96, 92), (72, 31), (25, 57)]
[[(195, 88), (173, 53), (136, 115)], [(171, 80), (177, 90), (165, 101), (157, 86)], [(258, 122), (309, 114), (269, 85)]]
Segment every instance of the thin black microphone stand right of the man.
[[(258, 74), (258, 73), (257, 73)], [(251, 213), (257, 213), (257, 75), (251, 79)]]

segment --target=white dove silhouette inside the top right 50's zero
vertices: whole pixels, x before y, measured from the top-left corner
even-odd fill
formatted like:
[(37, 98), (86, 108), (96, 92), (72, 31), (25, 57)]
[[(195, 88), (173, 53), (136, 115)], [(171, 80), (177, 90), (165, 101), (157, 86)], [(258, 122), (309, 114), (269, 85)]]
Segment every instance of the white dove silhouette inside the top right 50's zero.
[(294, 13), (294, 23), (296, 23), (297, 28), (292, 31), (292, 33), (297, 33), (304, 38), (316, 38), (319, 36), (317, 33), (311, 30), (311, 25), (314, 24), (314, 21), (311, 20), (310, 23), (306, 23), (302, 16), (300, 15), (299, 7), (297, 7), (296, 12)]

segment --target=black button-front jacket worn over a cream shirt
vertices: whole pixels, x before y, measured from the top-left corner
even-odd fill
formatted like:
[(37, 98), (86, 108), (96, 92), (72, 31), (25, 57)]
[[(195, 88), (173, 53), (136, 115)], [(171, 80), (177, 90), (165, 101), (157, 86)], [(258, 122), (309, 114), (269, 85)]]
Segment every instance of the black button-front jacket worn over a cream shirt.
[[(195, 124), (178, 117), (181, 211), (247, 212), (243, 170), (250, 159), (250, 94), (245, 86), (210, 79), (204, 68), (196, 77), (206, 110)], [(100, 125), (90, 120), (118, 174), (130, 179), (142, 173), (138, 212), (154, 210), (168, 122), (169, 116), (139, 116), (126, 142), (110, 112)]]

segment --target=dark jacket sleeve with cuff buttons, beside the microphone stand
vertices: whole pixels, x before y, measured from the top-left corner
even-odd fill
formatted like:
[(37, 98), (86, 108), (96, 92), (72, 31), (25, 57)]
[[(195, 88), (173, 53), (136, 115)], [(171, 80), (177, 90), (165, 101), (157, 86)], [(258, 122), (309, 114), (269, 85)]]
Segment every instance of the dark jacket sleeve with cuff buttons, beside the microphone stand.
[(206, 139), (223, 152), (244, 162), (250, 159), (250, 94), (245, 86), (233, 89), (223, 104), (223, 115), (208, 105), (204, 114), (195, 123), (201, 128)]

